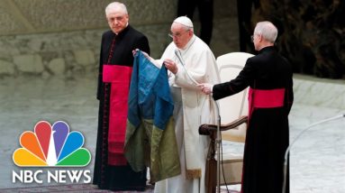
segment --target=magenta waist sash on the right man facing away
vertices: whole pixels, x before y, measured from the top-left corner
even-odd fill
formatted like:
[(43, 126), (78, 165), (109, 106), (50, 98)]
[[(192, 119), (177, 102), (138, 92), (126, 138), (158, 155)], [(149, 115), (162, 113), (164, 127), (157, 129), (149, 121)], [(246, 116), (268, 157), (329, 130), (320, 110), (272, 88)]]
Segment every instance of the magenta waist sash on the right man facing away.
[(270, 90), (252, 89), (248, 96), (249, 119), (255, 108), (275, 108), (284, 106), (285, 88)]

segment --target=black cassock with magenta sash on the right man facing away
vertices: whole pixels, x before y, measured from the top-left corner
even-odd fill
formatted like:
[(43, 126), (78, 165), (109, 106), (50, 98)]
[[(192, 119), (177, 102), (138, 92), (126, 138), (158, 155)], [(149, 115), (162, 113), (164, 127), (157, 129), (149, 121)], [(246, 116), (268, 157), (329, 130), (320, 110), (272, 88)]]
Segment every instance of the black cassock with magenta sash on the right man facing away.
[[(294, 100), (292, 75), (290, 64), (274, 47), (266, 47), (247, 60), (237, 78), (213, 87), (213, 98), (220, 99), (250, 86), (243, 193), (282, 191), (284, 156), (289, 144), (287, 116)], [(286, 193), (288, 178), (287, 170)]]

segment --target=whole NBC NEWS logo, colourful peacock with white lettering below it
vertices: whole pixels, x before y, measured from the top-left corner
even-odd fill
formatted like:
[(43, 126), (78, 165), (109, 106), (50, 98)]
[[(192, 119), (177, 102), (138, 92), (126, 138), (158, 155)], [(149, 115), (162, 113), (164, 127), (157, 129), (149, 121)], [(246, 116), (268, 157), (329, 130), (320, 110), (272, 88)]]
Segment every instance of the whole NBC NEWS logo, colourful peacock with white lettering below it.
[[(46, 121), (37, 123), (34, 132), (22, 133), (19, 142), (22, 148), (14, 151), (14, 164), (19, 167), (85, 167), (91, 161), (91, 153), (83, 148), (84, 136), (80, 132), (69, 132), (67, 123), (58, 121), (52, 125)], [(43, 183), (43, 170), (13, 170), (12, 182)], [(47, 171), (47, 181), (65, 183), (78, 182), (82, 176), (84, 183), (91, 181), (90, 170)]]

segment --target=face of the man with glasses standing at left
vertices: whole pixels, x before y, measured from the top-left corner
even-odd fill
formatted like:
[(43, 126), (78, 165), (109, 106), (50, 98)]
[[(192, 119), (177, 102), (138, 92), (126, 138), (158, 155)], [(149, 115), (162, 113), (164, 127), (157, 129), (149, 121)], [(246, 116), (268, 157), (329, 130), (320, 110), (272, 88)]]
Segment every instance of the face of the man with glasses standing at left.
[(121, 9), (113, 9), (106, 15), (106, 20), (108, 21), (110, 29), (118, 34), (127, 26), (129, 16), (123, 13)]

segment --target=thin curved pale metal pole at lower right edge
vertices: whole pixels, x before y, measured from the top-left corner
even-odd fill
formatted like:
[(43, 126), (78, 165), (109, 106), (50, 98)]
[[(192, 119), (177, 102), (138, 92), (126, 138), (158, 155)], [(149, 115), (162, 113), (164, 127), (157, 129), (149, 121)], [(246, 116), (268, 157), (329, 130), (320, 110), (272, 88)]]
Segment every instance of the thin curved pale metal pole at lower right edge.
[(314, 124), (310, 124), (308, 125), (307, 127), (305, 127), (301, 133), (299, 133), (293, 142), (290, 143), (290, 145), (287, 147), (286, 149), (286, 153), (285, 153), (285, 156), (284, 156), (284, 165), (283, 165), (283, 172), (284, 172), (284, 180), (283, 180), (283, 193), (286, 193), (286, 170), (287, 170), (287, 154), (288, 152), (290, 152), (290, 149), (291, 147), (293, 146), (293, 144), (297, 141), (297, 139), (303, 134), (305, 133), (306, 131), (308, 131), (310, 128), (312, 128), (313, 126), (316, 126), (318, 124), (323, 124), (323, 123), (326, 123), (326, 122), (330, 122), (330, 121), (333, 121), (333, 120), (336, 120), (336, 119), (339, 119), (339, 118), (344, 118), (345, 117), (345, 114), (343, 115), (336, 115), (336, 116), (333, 116), (331, 118), (328, 118), (328, 119), (323, 119), (322, 121), (319, 121), (319, 122), (316, 122)]

